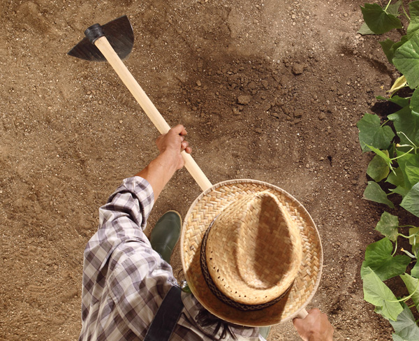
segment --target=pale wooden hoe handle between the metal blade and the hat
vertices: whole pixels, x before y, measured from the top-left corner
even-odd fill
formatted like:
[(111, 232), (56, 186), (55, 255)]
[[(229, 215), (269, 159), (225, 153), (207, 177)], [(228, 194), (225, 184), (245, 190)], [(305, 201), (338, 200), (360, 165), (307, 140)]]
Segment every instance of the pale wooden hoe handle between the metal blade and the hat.
[[(144, 110), (149, 119), (152, 120), (154, 126), (156, 126), (161, 134), (167, 133), (170, 130), (168, 122), (161, 116), (159, 110), (157, 110), (152, 101), (150, 101), (147, 94), (145, 94), (133, 75), (131, 75), (131, 72), (128, 71), (128, 68), (126, 68), (125, 64), (112, 48), (108, 39), (105, 36), (102, 36), (94, 42), (94, 45), (96, 45), (96, 48), (102, 52), (102, 55), (108, 60), (112, 68), (114, 68), (117, 75), (119, 75), (119, 78), (121, 78), (122, 82), (124, 82), (128, 90), (138, 101), (142, 110)], [(212, 187), (210, 180), (208, 180), (203, 173), (203, 170), (200, 169), (191, 155), (183, 151), (182, 157), (184, 158), (186, 169), (198, 183), (199, 187), (203, 191)]]

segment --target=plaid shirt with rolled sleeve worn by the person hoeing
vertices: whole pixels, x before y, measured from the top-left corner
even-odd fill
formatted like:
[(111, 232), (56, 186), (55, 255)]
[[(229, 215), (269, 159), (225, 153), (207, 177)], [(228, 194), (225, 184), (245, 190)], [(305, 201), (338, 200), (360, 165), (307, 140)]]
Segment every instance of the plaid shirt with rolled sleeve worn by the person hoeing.
[[(84, 250), (82, 331), (84, 340), (143, 340), (171, 286), (171, 266), (142, 232), (154, 194), (147, 180), (130, 177), (99, 210), (99, 227)], [(197, 315), (202, 305), (182, 293), (184, 309), (170, 340), (212, 340)], [(231, 326), (237, 340), (264, 340), (258, 328)], [(204, 333), (205, 331), (205, 333)]]

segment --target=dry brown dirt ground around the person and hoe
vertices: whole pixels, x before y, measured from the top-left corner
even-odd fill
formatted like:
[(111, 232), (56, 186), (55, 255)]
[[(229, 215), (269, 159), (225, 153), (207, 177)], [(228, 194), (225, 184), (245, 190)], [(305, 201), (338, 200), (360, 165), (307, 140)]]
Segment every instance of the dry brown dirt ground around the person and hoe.
[[(360, 4), (1, 1), (0, 339), (78, 338), (82, 253), (98, 208), (156, 156), (158, 133), (112, 68), (66, 55), (91, 24), (126, 14), (135, 35), (126, 65), (169, 124), (186, 126), (211, 182), (270, 182), (311, 213), (324, 270), (310, 306), (328, 313), (336, 340), (391, 340), (362, 300), (360, 265), (384, 208), (362, 199), (372, 156), (355, 124), (397, 73), (378, 38), (356, 34)], [(179, 171), (147, 231), (198, 194)], [(178, 251), (172, 263), (179, 274)], [(269, 340), (300, 338), (287, 323)]]

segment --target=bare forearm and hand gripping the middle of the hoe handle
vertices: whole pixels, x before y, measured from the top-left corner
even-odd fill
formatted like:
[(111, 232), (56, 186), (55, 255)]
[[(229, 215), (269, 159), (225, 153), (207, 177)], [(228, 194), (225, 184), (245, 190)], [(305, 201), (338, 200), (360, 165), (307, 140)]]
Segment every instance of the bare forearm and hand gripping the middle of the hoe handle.
[(187, 153), (192, 151), (189, 143), (184, 140), (184, 136), (186, 136), (186, 130), (182, 124), (178, 124), (168, 133), (159, 136), (156, 140), (156, 145), (160, 151), (159, 156), (135, 174), (135, 176), (143, 177), (152, 185), (154, 201), (157, 200), (176, 170), (184, 166), (184, 160), (180, 154), (182, 150)]

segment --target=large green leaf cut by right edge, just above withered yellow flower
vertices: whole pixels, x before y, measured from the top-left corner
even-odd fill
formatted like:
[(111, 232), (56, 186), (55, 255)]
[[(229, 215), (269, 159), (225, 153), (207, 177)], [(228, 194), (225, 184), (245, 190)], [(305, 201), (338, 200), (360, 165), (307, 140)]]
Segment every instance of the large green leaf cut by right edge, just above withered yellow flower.
[(419, 36), (418, 32), (413, 34), (409, 41), (406, 41), (395, 51), (392, 59), (397, 70), (402, 73), (411, 89), (419, 85)]

